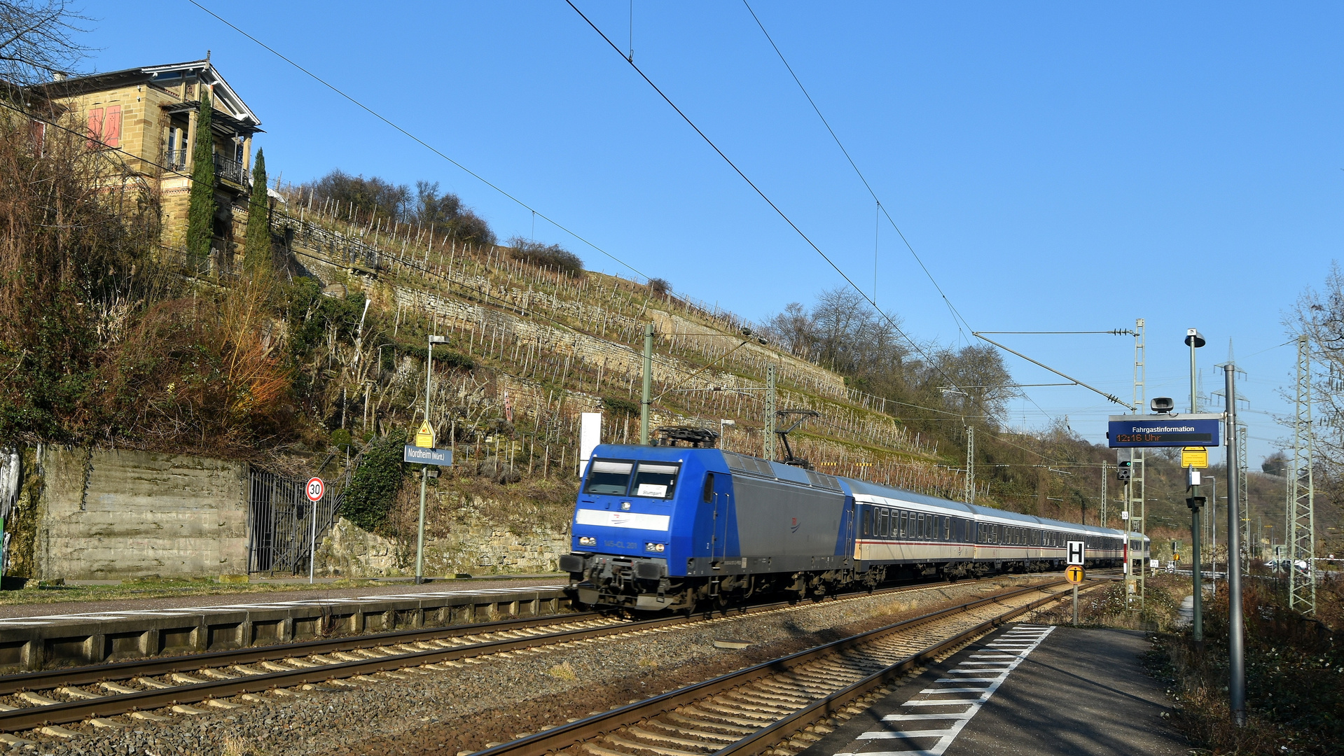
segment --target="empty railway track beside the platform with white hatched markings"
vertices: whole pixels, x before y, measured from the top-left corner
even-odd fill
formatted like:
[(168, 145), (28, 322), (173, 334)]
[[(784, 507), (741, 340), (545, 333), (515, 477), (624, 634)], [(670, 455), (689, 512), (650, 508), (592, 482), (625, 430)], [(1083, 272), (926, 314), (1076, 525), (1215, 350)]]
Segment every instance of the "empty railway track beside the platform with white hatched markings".
[[(968, 602), (499, 744), (473, 756), (796, 753), (923, 663), (1058, 600), (1064, 581)], [(1087, 588), (1094, 588), (1093, 583)], [(831, 724), (828, 724), (831, 722)]]

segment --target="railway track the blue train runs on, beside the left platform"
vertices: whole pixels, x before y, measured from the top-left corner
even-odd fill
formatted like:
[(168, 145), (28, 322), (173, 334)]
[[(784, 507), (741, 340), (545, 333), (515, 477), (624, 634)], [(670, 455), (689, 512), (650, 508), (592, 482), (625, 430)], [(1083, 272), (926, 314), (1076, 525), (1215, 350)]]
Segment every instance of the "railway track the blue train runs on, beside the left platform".
[[(828, 603), (942, 585), (895, 587), (837, 596)], [(731, 614), (769, 612), (792, 606), (788, 602), (759, 604), (735, 608)], [(151, 712), (171, 709), (176, 714), (191, 716), (211, 708), (234, 709), (242, 704), (224, 698), (242, 696), (243, 700), (259, 700), (259, 693), (284, 696), (290, 688), (333, 689), (411, 674), (438, 674), (478, 662), (478, 657), (534, 653), (544, 646), (602, 636), (663, 632), (696, 622), (702, 618), (679, 615), (625, 620), (599, 612), (575, 612), (11, 674), (0, 677), (0, 732), (50, 729), (51, 725), (81, 721), (94, 726), (125, 726), (125, 722), (109, 717), (129, 714), (140, 720), (161, 720), (160, 714)], [(63, 733), (56, 730), (56, 735)]]

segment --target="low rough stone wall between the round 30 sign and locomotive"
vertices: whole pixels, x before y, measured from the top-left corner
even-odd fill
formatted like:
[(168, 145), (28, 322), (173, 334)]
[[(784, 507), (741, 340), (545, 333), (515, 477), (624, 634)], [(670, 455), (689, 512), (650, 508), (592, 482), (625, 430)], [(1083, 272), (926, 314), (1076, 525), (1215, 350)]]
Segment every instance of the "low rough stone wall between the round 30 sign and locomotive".
[[(426, 537), (425, 575), (556, 572), (560, 555), (570, 552), (569, 530), (556, 532), (544, 525), (520, 530), (484, 521), (454, 522), (446, 536)], [(317, 573), (340, 577), (414, 575), (415, 542), (398, 544), (341, 517), (317, 549)]]

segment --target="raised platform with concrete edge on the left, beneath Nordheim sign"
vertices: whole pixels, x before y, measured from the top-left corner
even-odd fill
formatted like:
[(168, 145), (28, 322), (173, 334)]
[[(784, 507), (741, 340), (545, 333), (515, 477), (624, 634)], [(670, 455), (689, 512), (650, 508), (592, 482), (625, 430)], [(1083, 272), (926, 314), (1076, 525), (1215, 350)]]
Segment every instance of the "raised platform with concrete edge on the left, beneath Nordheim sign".
[(59, 612), (60, 604), (42, 604), (59, 614), (0, 619), (0, 674), (559, 614), (570, 607), (564, 587), (512, 581), (457, 589), (395, 585), (328, 596), (277, 592), (171, 599), (190, 606), (129, 599), (83, 612)]

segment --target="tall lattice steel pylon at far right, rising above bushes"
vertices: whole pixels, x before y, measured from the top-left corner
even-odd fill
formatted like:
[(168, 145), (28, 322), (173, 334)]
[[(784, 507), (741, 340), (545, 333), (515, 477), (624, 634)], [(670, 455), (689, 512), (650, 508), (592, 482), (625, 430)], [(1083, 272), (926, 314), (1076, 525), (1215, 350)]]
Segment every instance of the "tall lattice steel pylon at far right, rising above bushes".
[(1293, 473), (1288, 479), (1288, 606), (1316, 614), (1316, 483), (1312, 477), (1312, 350), (1297, 337), (1297, 416), (1293, 420)]

